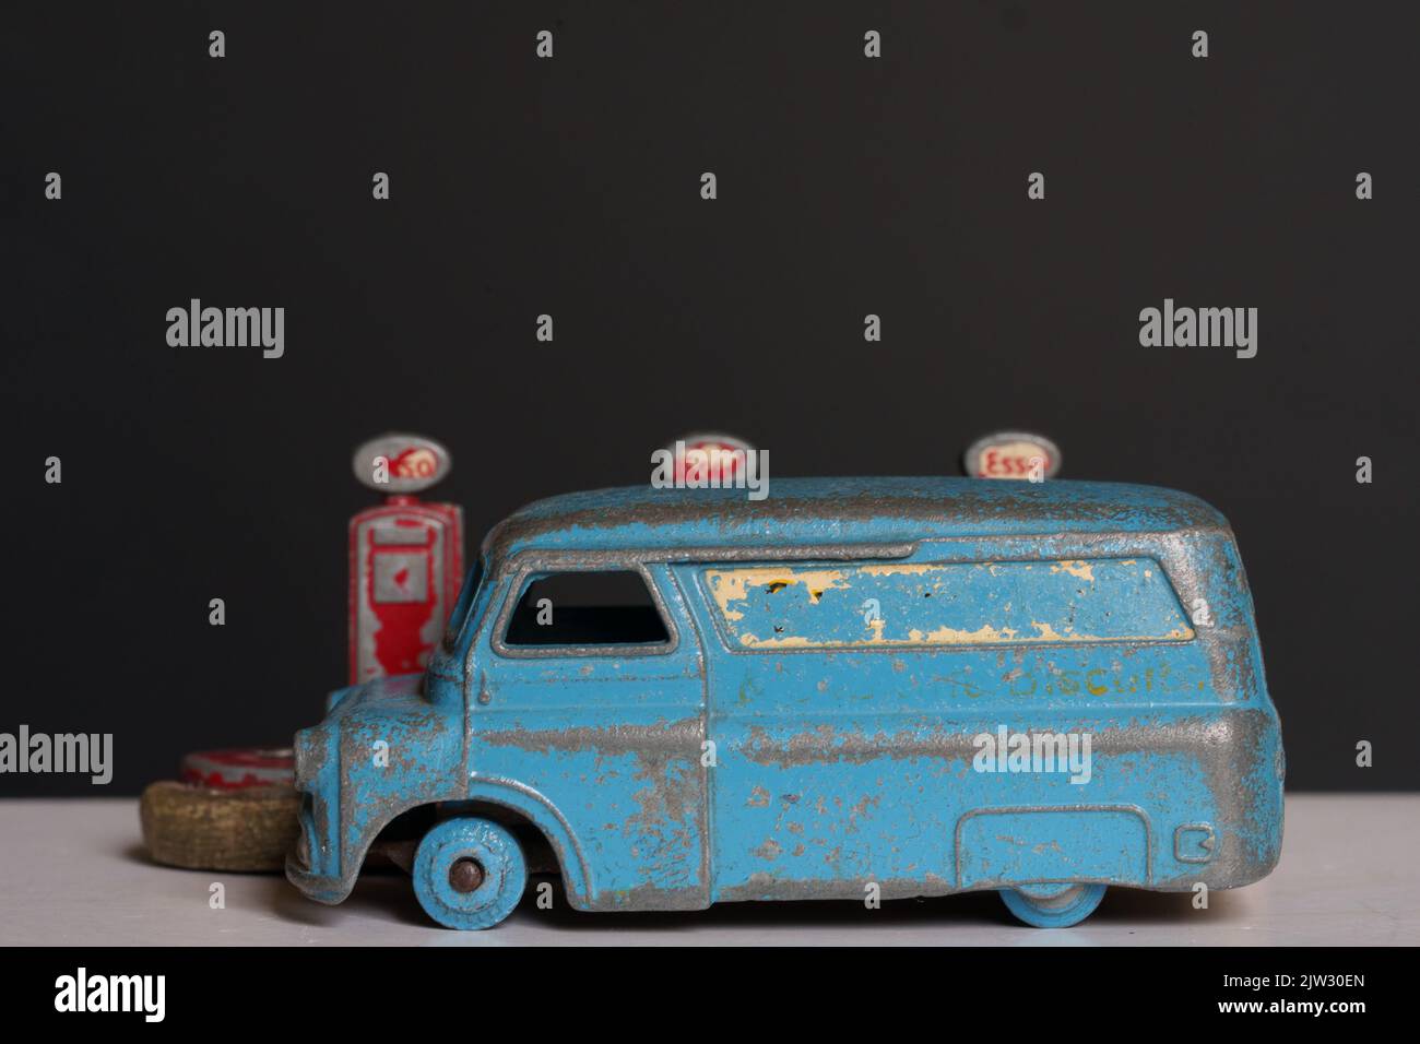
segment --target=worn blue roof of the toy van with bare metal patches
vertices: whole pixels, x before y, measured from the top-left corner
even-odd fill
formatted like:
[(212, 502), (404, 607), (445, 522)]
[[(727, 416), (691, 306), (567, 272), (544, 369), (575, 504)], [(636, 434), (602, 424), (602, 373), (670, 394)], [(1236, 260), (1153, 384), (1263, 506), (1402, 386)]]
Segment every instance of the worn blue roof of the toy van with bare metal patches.
[(567, 493), (488, 533), (490, 560), (527, 550), (907, 544), (934, 537), (1030, 537), (1225, 528), (1198, 497), (1159, 486), (990, 479), (774, 479), (743, 489), (625, 486)]

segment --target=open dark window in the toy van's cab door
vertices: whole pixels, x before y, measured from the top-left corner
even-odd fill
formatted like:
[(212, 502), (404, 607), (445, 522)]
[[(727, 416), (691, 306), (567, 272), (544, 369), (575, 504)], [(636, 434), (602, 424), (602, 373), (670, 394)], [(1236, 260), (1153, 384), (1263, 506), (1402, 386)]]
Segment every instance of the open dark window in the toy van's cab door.
[(508, 618), (506, 645), (655, 645), (670, 634), (633, 570), (532, 577)]

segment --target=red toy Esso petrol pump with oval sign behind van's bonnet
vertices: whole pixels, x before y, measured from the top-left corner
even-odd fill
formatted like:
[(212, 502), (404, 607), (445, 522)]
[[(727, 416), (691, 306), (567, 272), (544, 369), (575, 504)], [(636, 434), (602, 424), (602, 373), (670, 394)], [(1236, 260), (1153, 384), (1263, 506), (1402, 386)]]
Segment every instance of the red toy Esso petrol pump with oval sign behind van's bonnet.
[(463, 511), (420, 501), (449, 474), (449, 450), (383, 435), (355, 450), (355, 477), (385, 493), (349, 524), (349, 680), (423, 670), (463, 580)]

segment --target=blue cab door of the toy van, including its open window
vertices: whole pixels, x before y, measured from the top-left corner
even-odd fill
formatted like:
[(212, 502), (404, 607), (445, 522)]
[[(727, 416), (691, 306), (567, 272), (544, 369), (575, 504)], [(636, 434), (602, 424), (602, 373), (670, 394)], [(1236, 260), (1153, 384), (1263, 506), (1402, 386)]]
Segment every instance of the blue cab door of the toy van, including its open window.
[(670, 570), (528, 561), (470, 705), (470, 774), (530, 790), (565, 824), (582, 909), (710, 903), (704, 670)]

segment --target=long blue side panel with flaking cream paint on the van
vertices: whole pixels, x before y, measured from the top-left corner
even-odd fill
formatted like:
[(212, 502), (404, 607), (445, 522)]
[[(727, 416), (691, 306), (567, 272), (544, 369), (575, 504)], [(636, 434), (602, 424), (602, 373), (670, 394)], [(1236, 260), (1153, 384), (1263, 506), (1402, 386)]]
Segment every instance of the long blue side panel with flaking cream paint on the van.
[(1186, 642), (1152, 558), (709, 568), (733, 649)]

